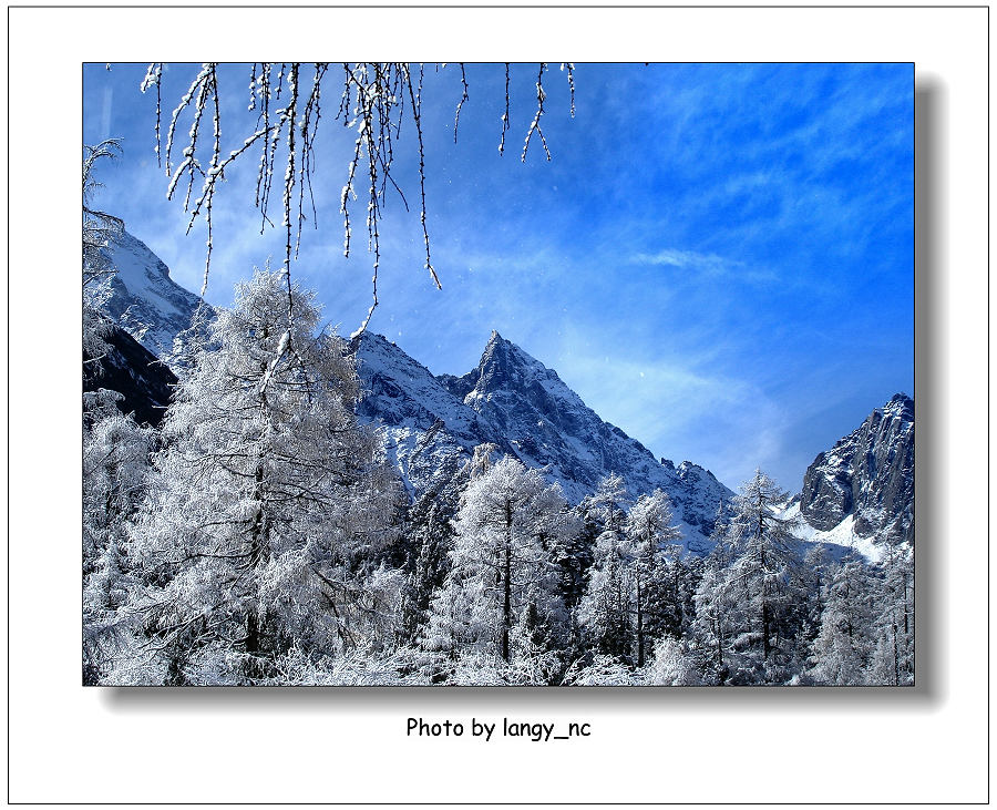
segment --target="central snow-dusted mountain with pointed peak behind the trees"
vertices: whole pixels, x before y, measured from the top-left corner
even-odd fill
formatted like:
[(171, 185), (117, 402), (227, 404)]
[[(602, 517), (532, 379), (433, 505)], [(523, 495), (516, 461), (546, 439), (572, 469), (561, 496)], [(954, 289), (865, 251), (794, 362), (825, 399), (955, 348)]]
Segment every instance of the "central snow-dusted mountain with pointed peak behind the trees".
[(360, 416), (381, 425), (386, 452), (413, 493), (442, 484), (493, 443), (528, 466), (544, 468), (577, 502), (615, 472), (631, 498), (669, 494), (687, 547), (708, 550), (717, 509), (733, 493), (688, 461), (658, 461), (640, 442), (604, 422), (553, 369), (492, 332), (477, 368), (434, 377), (379, 335), (354, 340), (363, 388)]

